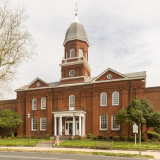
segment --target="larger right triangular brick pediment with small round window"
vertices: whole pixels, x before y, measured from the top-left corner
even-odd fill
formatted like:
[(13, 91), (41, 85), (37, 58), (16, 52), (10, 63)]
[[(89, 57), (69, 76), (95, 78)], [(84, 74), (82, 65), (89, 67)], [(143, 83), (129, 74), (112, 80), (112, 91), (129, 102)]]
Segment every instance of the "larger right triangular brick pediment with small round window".
[(102, 72), (99, 76), (97, 76), (93, 81), (107, 81), (107, 80), (114, 80), (114, 79), (123, 79), (128, 78), (127, 76), (114, 71), (113, 69), (106, 69)]

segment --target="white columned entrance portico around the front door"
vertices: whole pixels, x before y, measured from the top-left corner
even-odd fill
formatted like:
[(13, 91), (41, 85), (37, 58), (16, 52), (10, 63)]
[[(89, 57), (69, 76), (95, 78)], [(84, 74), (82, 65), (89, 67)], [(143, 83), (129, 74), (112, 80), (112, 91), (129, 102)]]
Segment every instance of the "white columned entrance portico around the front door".
[[(74, 118), (73, 111), (57, 111), (54, 114), (54, 135), (76, 135), (85, 136), (85, 111), (77, 110), (76, 119)], [(65, 117), (65, 124), (62, 125), (62, 118)], [(58, 121), (58, 123), (57, 123)], [(75, 126), (76, 122), (76, 126)], [(57, 126), (58, 124), (58, 126)], [(63, 126), (63, 128), (62, 128)]]

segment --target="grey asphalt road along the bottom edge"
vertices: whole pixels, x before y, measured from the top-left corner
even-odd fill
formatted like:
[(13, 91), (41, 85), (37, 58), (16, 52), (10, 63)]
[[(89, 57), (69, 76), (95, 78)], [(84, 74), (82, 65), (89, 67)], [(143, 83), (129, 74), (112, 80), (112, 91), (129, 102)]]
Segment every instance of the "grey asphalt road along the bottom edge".
[(149, 160), (148, 158), (124, 158), (97, 155), (40, 153), (40, 152), (0, 152), (0, 160)]

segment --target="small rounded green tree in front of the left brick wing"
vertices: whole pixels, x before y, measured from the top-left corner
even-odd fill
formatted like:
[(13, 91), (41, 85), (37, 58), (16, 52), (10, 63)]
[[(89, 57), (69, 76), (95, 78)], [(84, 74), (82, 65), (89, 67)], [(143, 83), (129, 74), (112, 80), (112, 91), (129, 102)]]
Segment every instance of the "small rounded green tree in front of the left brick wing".
[(7, 127), (11, 136), (14, 136), (14, 128), (19, 127), (23, 123), (18, 112), (4, 109), (0, 114), (0, 127)]

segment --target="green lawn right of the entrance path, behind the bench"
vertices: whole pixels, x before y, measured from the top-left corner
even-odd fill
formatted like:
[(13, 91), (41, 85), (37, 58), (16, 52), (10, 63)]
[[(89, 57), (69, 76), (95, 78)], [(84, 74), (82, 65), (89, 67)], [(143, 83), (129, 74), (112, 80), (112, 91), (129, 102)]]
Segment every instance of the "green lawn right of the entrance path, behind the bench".
[[(107, 141), (108, 142), (108, 141)], [(109, 141), (111, 142), (111, 141)], [(74, 140), (68, 140), (60, 142), (60, 146), (68, 147), (95, 147), (96, 140), (77, 140), (76, 143)], [(113, 142), (114, 149), (139, 149), (139, 143), (135, 146), (134, 142)], [(142, 150), (160, 150), (160, 143), (141, 143)]]

